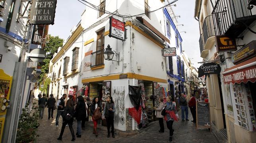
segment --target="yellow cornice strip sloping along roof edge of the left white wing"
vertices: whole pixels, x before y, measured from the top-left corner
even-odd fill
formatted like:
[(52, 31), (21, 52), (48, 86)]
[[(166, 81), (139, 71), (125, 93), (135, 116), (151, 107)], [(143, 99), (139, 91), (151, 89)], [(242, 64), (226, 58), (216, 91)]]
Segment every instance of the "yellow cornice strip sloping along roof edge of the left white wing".
[(78, 36), (80, 35), (80, 33), (83, 31), (83, 27), (81, 26), (81, 24), (78, 26), (78, 28), (76, 28), (76, 30), (74, 31), (74, 33), (70, 36), (70, 38), (68, 39), (68, 41), (65, 43), (65, 45), (62, 47), (62, 49), (57, 53), (57, 55), (52, 59), (52, 63), (54, 64), (58, 58), (60, 58), (60, 56), (62, 56), (62, 54), (64, 53), (64, 50), (66, 51), (70, 45), (76, 40), (76, 38), (78, 38)]

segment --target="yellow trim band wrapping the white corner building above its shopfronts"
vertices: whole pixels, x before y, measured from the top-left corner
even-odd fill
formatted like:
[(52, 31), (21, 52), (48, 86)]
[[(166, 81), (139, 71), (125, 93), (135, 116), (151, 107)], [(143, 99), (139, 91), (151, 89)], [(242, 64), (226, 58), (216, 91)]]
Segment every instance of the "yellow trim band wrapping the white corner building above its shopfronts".
[(149, 77), (146, 75), (139, 75), (136, 73), (123, 73), (123, 74), (118, 74), (118, 75), (109, 75), (107, 77), (94, 77), (94, 78), (89, 78), (89, 79), (82, 79), (82, 83), (89, 83), (89, 82), (96, 82), (96, 81), (107, 81), (107, 80), (115, 80), (115, 79), (120, 79), (120, 75), (125, 75), (127, 74), (127, 78), (129, 79), (140, 79), (140, 80), (145, 80), (145, 81), (154, 81), (158, 83), (167, 83), (166, 79), (159, 79), (156, 77)]

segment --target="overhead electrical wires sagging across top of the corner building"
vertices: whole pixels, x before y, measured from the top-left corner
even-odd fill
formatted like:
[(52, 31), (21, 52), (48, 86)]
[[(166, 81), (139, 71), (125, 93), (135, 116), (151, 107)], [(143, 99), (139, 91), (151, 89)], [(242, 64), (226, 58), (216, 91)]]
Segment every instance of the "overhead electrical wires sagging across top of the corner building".
[[(171, 5), (171, 4), (175, 3), (175, 2), (177, 2), (178, 0), (173, 0), (173, 2), (170, 2), (169, 4), (167, 4), (167, 5), (165, 5), (165, 6), (161, 7), (161, 8), (155, 9), (155, 10), (153, 10), (153, 11), (149, 11), (149, 12), (145, 12), (145, 13), (140, 13), (140, 14), (137, 14), (137, 15), (121, 15), (121, 14), (119, 14), (119, 13), (116, 14), (116, 13), (112, 13), (112, 12), (110, 12), (110, 11), (107, 11), (107, 10), (105, 10), (105, 9), (99, 8), (98, 6), (95, 6), (95, 5), (91, 4), (90, 2), (87, 2), (86, 0), (78, 0), (78, 1), (79, 1), (79, 2), (83, 1), (83, 2), (85, 2), (85, 3), (83, 3), (83, 2), (81, 2), (81, 3), (84, 4), (85, 6), (88, 6), (89, 8), (95, 9), (95, 10), (100, 11), (100, 12), (104, 12), (104, 13), (107, 13), (107, 14), (116, 15), (116, 16), (118, 16), (118, 17), (129, 18), (129, 17), (136, 17), (136, 16), (146, 15), (146, 14), (148, 14), (148, 13), (153, 13), (153, 12), (159, 10), (159, 9), (165, 8), (166, 6), (169, 6), (169, 5)], [(86, 3), (87, 3), (87, 4), (86, 4)], [(88, 4), (89, 4), (89, 5), (88, 5)]]

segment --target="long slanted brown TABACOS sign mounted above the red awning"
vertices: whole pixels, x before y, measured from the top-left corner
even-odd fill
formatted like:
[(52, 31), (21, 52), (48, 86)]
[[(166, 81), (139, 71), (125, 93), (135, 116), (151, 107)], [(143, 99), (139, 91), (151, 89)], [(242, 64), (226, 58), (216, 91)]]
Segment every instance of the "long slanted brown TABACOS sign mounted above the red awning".
[(248, 60), (249, 58), (252, 58), (254, 56), (256, 56), (256, 40), (251, 41), (241, 49), (237, 50), (232, 55), (232, 62), (234, 64), (239, 64), (240, 62)]

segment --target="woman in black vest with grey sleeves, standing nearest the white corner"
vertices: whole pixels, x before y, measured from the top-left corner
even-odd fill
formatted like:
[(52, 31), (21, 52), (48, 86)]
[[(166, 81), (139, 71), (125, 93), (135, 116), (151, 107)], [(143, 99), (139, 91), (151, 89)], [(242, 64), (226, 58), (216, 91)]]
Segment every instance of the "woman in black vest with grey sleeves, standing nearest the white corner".
[(108, 130), (108, 135), (110, 135), (110, 127), (111, 127), (111, 134), (112, 137), (115, 138), (114, 136), (114, 112), (116, 111), (114, 107), (114, 102), (111, 96), (107, 97), (107, 103), (104, 107), (103, 110), (103, 119), (107, 120), (107, 130)]

